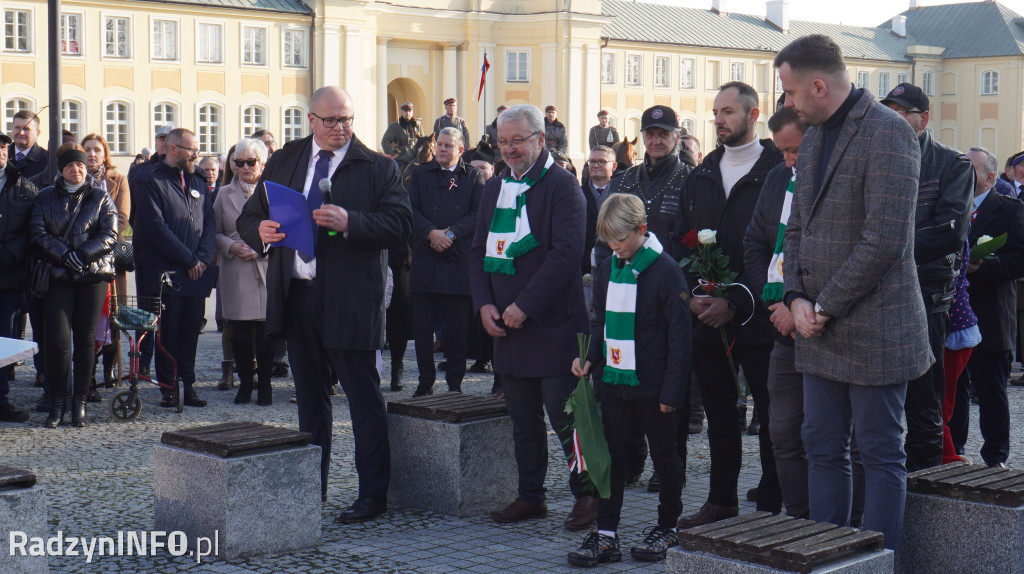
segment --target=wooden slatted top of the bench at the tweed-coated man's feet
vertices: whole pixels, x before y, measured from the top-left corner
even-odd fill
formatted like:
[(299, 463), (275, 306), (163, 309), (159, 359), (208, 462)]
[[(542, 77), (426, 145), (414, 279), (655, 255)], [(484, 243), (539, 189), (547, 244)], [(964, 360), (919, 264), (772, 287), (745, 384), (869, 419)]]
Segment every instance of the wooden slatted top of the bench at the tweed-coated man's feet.
[(686, 550), (809, 573), (826, 561), (864, 550), (882, 550), (882, 533), (752, 513), (679, 531)]

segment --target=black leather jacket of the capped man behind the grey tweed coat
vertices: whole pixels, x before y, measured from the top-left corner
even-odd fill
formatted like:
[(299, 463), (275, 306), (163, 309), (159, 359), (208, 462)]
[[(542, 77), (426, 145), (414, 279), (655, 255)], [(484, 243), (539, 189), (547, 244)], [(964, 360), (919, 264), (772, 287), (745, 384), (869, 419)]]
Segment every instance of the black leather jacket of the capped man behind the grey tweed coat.
[(966, 156), (926, 131), (921, 142), (921, 180), (914, 212), (913, 259), (932, 312), (949, 308), (956, 291), (961, 251), (974, 212), (974, 167)]

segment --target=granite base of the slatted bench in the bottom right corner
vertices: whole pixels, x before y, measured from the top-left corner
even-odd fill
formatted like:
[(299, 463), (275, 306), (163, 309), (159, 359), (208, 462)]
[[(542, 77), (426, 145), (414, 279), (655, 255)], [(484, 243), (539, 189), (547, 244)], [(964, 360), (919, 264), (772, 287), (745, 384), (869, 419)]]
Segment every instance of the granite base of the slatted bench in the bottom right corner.
[(1024, 506), (907, 492), (896, 572), (1024, 573)]

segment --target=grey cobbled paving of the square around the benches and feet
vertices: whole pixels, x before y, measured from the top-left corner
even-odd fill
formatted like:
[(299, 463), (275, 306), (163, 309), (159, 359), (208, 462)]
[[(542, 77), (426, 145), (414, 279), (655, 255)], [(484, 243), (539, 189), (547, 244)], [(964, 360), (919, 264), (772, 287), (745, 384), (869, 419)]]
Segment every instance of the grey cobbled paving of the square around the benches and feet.
[[(200, 396), (210, 402), (205, 408), (174, 409), (159, 406), (156, 388), (143, 388), (142, 412), (134, 423), (114, 422), (109, 411), (113, 391), (103, 390), (103, 403), (90, 403), (89, 426), (57, 430), (42, 427), (45, 414), (33, 412), (28, 423), (0, 425), (0, 465), (30, 469), (46, 489), (49, 502), (50, 535), (116, 536), (118, 531), (153, 528), (153, 455), (154, 445), (164, 432), (229, 421), (254, 421), (292, 429), (298, 428), (296, 406), (289, 402), (291, 379), (274, 379), (274, 403), (260, 407), (255, 403), (236, 405), (232, 392), (217, 391), (220, 377), (220, 334), (213, 329), (212, 299), (208, 305), (210, 327), (200, 338), (198, 383)], [(438, 359), (440, 356), (438, 355)], [(412, 345), (406, 355), (406, 388), (393, 393), (388, 389), (389, 358), (385, 351), (384, 397), (406, 398), (416, 387), (416, 362)], [(97, 369), (98, 372), (98, 369)], [(1015, 369), (1015, 376), (1019, 370)], [(35, 404), (41, 390), (32, 386), (34, 370), (17, 367), (12, 383), (11, 401), (22, 407)], [(492, 376), (468, 373), (463, 389), (467, 393), (486, 394)], [(443, 382), (437, 388), (443, 389)], [(1011, 387), (1013, 449), (1019, 448), (1022, 430), (1017, 412), (1024, 406), (1024, 389)], [(392, 506), (386, 515), (360, 525), (340, 525), (335, 516), (356, 494), (352, 467), (352, 437), (348, 405), (344, 397), (335, 397), (334, 458), (328, 489), (328, 501), (322, 512), (323, 542), (314, 549), (238, 561), (213, 561), (197, 564), (187, 557), (98, 557), (86, 564), (83, 557), (51, 557), (50, 572), (373, 572), (373, 573), (447, 573), (447, 572), (571, 572), (565, 555), (583, 539), (583, 533), (567, 532), (562, 527), (572, 505), (566, 487), (565, 462), (554, 433), (549, 432), (551, 466), (547, 486), (547, 518), (521, 524), (499, 525), (485, 516), (459, 519), (443, 515)], [(392, 440), (397, 440), (392, 437)], [(688, 483), (683, 490), (684, 514), (695, 512), (708, 493), (710, 467), (706, 434), (691, 435), (687, 467)], [(972, 411), (972, 435), (968, 454), (980, 460), (977, 430), (977, 406)], [(1016, 463), (1016, 452), (1010, 465)], [(623, 509), (620, 539), (624, 560), (601, 566), (608, 572), (664, 572), (664, 564), (633, 561), (628, 548), (642, 538), (642, 530), (654, 524), (657, 494), (648, 493), (646, 479), (650, 461), (640, 484), (629, 486)], [(760, 476), (757, 437), (743, 435), (743, 470), (739, 479), (740, 513), (754, 511), (743, 500), (746, 490)], [(429, 477), (424, 477), (429, 480)], [(254, 504), (260, 501), (254, 499)], [(6, 533), (5, 533), (6, 535)]]

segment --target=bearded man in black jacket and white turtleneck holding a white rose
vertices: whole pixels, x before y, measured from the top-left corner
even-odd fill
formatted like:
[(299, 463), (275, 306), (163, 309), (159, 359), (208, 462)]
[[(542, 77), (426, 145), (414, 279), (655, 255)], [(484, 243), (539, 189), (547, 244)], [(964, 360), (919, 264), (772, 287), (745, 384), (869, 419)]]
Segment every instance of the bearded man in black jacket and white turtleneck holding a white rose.
[[(752, 284), (743, 265), (743, 236), (751, 223), (765, 176), (781, 161), (781, 153), (770, 139), (759, 140), (754, 131), (760, 115), (758, 95), (742, 82), (722, 86), (715, 98), (715, 127), (722, 142), (715, 151), (686, 177), (680, 196), (680, 217), (675, 237), (690, 230), (717, 231), (717, 244), (729, 258), (729, 268), (737, 273), (735, 282)], [(677, 238), (676, 241), (679, 239)], [(691, 250), (684, 247), (684, 253)], [(687, 267), (687, 283), (698, 279)], [(768, 312), (757, 306), (751, 294), (739, 286), (722, 297), (693, 297), (690, 310), (694, 324), (693, 370), (708, 413), (708, 440), (711, 447), (711, 488), (708, 502), (696, 514), (683, 517), (680, 528), (693, 528), (738, 513), (737, 481), (742, 456), (740, 423), (734, 373), (726, 359), (720, 329), (725, 327), (736, 367), (743, 374), (754, 396), (762, 425), (768, 424), (768, 363), (775, 329)], [(771, 438), (759, 435), (761, 443), (761, 482), (758, 485), (758, 510), (778, 513), (782, 495), (775, 472)]]

